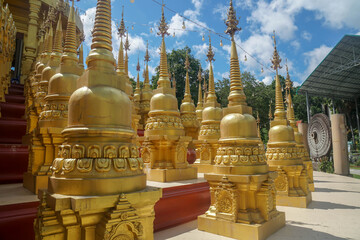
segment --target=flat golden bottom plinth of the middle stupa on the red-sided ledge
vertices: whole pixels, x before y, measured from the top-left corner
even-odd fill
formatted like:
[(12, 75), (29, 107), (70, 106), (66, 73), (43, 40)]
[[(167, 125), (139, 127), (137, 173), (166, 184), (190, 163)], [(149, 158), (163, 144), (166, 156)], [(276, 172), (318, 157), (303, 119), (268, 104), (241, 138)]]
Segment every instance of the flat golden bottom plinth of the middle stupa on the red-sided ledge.
[(145, 168), (148, 181), (174, 182), (197, 178), (197, 168), (152, 169)]

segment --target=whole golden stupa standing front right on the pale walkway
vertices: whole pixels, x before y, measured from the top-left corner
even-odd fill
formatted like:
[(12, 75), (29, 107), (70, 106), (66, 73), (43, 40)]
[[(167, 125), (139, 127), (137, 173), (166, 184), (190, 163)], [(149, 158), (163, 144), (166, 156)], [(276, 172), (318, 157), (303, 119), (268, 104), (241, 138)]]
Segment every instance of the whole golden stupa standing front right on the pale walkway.
[(226, 21), (226, 33), (231, 36), (229, 104), (223, 110), (213, 172), (204, 176), (211, 205), (198, 217), (198, 228), (236, 239), (266, 239), (285, 225), (285, 214), (276, 210), (276, 173), (269, 172), (256, 120), (246, 104), (234, 40), (238, 22), (230, 0)]

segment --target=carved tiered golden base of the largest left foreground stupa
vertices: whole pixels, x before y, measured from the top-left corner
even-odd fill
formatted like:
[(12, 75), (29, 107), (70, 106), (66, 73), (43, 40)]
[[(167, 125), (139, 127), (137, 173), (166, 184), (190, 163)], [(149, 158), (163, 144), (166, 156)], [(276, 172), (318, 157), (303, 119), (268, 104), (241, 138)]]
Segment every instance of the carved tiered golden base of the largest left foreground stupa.
[(35, 233), (41, 239), (153, 238), (159, 188), (107, 196), (68, 196), (39, 191), (41, 214)]

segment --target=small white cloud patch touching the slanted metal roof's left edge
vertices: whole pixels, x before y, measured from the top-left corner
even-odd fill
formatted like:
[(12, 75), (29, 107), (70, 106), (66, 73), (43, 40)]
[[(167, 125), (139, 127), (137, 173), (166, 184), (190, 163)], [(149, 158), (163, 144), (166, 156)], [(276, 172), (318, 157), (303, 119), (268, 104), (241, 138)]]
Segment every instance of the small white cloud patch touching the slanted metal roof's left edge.
[(312, 71), (319, 65), (319, 63), (326, 57), (326, 55), (330, 52), (332, 48), (321, 45), (318, 48), (315, 48), (309, 52), (304, 53), (305, 56), (305, 64), (307, 65), (307, 69), (302, 76), (302, 81), (304, 81)]

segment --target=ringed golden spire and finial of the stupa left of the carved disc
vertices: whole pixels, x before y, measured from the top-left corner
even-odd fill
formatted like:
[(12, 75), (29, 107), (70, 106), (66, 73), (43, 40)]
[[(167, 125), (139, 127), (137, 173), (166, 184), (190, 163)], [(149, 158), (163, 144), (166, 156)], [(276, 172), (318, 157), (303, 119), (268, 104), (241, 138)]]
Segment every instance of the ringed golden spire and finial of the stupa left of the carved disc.
[(280, 66), (281, 58), (276, 49), (275, 31), (274, 31), (273, 39), (274, 39), (274, 53), (273, 53), (273, 59), (271, 60), (272, 63), (271, 67), (276, 71), (274, 120), (283, 120), (286, 119), (286, 112), (284, 108), (284, 100), (281, 92), (281, 84), (280, 84), (279, 71), (278, 71), (282, 67)]

